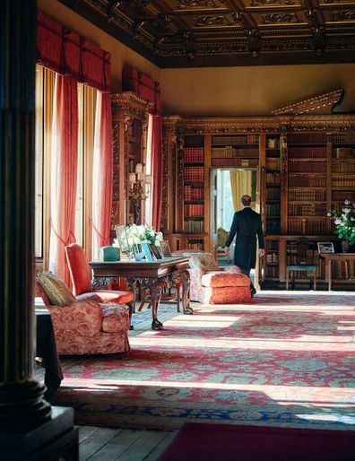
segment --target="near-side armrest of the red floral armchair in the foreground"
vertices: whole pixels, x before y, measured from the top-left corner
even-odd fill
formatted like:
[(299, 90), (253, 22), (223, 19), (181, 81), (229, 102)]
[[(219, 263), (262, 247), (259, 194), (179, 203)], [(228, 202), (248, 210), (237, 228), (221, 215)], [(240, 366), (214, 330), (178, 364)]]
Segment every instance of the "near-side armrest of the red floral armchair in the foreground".
[(48, 306), (55, 332), (97, 335), (102, 331), (103, 312), (94, 300), (78, 301), (67, 306)]

